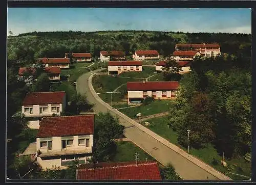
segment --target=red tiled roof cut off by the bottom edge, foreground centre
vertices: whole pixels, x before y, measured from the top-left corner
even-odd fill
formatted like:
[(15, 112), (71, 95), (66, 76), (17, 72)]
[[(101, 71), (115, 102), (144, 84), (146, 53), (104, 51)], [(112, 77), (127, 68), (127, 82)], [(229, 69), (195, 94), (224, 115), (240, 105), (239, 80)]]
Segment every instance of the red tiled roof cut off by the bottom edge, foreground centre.
[(102, 168), (78, 169), (79, 180), (161, 180), (156, 162), (116, 163)]

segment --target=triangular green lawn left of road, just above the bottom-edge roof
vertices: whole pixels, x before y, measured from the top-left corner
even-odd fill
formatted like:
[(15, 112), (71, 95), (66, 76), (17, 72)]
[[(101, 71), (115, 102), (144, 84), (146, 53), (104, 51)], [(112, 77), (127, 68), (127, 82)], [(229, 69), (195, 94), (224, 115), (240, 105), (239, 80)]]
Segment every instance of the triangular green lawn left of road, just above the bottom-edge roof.
[(116, 142), (117, 152), (112, 162), (129, 162), (135, 161), (135, 153), (139, 154), (139, 161), (145, 161), (147, 158), (148, 161), (155, 161), (151, 155), (144, 152), (141, 148), (133, 144), (132, 142)]

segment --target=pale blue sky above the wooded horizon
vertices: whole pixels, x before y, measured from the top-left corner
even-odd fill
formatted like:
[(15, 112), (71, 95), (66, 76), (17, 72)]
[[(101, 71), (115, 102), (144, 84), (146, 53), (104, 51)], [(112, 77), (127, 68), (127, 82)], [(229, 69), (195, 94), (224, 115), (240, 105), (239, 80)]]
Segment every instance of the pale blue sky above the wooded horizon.
[(250, 9), (8, 8), (14, 35), (50, 31), (151, 30), (251, 33)]

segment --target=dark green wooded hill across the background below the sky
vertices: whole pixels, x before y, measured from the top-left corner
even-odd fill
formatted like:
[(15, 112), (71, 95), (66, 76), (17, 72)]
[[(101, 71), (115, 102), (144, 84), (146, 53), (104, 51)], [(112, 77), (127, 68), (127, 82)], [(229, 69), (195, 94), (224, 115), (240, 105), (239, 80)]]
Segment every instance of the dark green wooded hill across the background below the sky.
[(32, 32), (8, 37), (8, 59), (33, 63), (37, 58), (63, 58), (65, 52), (91, 52), (95, 58), (102, 50), (158, 50), (169, 56), (177, 43), (219, 43), (222, 53), (250, 57), (251, 35), (228, 33), (182, 33), (153, 31)]

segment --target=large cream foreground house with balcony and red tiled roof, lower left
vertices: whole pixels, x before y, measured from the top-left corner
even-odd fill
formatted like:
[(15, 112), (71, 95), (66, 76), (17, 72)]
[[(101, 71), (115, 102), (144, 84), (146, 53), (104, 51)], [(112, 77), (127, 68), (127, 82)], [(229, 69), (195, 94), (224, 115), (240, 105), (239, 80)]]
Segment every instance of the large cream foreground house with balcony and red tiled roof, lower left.
[(36, 136), (37, 163), (42, 169), (66, 169), (92, 156), (94, 114), (42, 118)]

